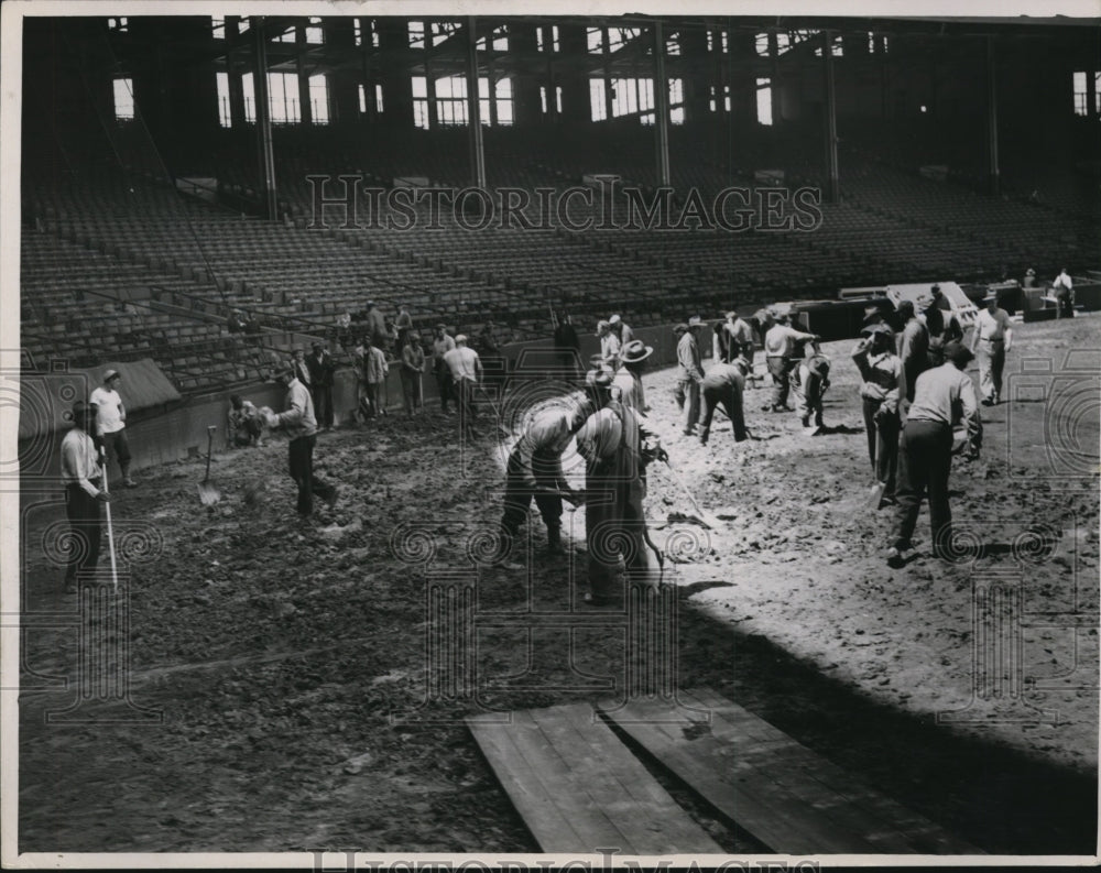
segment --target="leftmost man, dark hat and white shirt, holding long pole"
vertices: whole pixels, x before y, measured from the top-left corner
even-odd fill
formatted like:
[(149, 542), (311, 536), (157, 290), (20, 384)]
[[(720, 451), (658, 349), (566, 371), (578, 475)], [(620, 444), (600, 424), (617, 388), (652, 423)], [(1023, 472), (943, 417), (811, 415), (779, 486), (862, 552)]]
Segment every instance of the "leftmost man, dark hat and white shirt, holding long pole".
[(76, 593), (78, 572), (95, 570), (102, 536), (101, 503), (110, 495), (100, 487), (102, 470), (95, 440), (88, 435), (94, 407), (84, 401), (73, 404), (73, 429), (62, 440), (62, 482), (65, 484), (65, 514), (76, 546), (69, 552), (65, 570), (65, 593)]

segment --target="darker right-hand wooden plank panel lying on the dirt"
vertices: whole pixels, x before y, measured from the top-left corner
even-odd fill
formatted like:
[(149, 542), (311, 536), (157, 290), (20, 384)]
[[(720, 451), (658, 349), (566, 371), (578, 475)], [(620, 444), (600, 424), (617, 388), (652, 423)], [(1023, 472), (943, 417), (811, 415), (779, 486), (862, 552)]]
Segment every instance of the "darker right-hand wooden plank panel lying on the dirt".
[(680, 702), (609, 703), (620, 728), (712, 806), (776, 852), (981, 854), (935, 822), (710, 689)]

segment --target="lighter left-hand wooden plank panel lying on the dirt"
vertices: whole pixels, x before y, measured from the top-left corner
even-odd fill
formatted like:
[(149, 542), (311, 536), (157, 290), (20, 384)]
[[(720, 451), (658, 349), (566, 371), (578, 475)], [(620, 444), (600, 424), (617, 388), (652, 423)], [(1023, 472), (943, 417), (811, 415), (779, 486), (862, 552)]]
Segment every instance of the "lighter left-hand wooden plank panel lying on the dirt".
[(467, 725), (544, 852), (722, 854), (589, 703)]

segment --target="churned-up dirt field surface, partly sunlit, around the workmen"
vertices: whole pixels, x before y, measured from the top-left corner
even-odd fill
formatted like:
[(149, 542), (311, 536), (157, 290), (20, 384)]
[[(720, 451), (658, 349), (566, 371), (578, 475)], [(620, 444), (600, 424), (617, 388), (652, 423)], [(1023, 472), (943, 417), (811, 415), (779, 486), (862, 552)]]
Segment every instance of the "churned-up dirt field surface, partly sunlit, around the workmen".
[[(648, 421), (722, 524), (678, 523), (690, 506), (657, 468), (646, 508), (687, 561), (667, 575), (683, 687), (710, 686), (986, 852), (1092, 854), (1101, 319), (1016, 332), (982, 458), (952, 472), (958, 560), (929, 554), (923, 511), (918, 556), (885, 564), (893, 510), (865, 506), (851, 341), (825, 347), (814, 437), (753, 390), (756, 439), (735, 444), (720, 417), (701, 447), (678, 435), (672, 371), (648, 373)], [(1084, 357), (1067, 369), (1071, 350)], [(341, 495), (305, 524), (281, 438), (217, 454), (209, 510), (196, 460), (142, 471), (112, 503), (133, 532), (129, 625), (84, 621), (121, 659), (129, 701), (87, 690), (78, 598), (43, 545), (64, 519), (57, 489), (24, 485), (20, 851), (537, 851), (461, 718), (614, 696), (629, 665), (622, 622), (528, 635), (483, 620), (593, 612), (584, 555), (544, 556), (536, 515), (526, 569), (478, 564), (503, 482), (483, 414), (472, 444), (436, 408), (320, 435), (317, 470)], [(573, 548), (582, 515), (567, 515)], [(442, 689), (426, 641), (446, 616), (426, 590), (475, 578), (457, 607), (477, 636), (470, 687)], [(979, 607), (995, 589), (991, 619)], [(1010, 648), (980, 644), (994, 637)], [(657, 775), (728, 851), (760, 848)]]

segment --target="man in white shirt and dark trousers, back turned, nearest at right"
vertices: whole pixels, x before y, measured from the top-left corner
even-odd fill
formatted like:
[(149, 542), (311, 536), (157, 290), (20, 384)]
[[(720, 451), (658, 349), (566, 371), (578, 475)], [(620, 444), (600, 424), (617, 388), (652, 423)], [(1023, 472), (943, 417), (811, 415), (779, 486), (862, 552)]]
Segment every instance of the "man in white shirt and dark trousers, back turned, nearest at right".
[(952, 466), (953, 429), (967, 427), (967, 454), (979, 456), (982, 421), (974, 384), (964, 372), (973, 354), (959, 342), (945, 347), (945, 363), (917, 378), (914, 402), (902, 432), (898, 454), (898, 515), (887, 564), (901, 567), (913, 548), (912, 538), (926, 492), (933, 527), (933, 554), (951, 553), (952, 512), (948, 504), (948, 474)]

